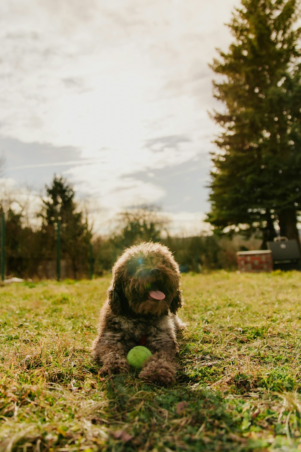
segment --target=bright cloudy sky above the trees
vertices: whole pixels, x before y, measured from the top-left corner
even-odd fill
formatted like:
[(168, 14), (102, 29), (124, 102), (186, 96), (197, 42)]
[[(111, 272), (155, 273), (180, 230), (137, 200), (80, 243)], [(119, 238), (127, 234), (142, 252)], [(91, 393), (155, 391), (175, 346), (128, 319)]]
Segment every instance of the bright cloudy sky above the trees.
[(238, 0), (0, 2), (0, 189), (32, 212), (54, 174), (106, 233), (153, 204), (171, 234), (208, 229), (208, 64), (233, 41)]

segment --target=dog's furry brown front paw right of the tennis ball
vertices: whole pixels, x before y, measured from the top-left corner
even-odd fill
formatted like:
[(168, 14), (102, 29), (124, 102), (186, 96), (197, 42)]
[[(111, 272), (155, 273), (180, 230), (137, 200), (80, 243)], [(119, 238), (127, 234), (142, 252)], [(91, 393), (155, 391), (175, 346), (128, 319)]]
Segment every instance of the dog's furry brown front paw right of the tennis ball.
[(157, 383), (162, 386), (170, 385), (175, 381), (176, 369), (173, 363), (168, 362), (164, 358), (148, 359), (139, 378), (151, 383)]

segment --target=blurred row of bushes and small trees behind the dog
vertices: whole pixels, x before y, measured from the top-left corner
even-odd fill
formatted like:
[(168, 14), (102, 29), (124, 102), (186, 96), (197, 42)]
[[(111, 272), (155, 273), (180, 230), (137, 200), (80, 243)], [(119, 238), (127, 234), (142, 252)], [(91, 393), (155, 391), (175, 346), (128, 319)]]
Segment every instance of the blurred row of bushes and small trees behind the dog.
[[(182, 271), (200, 272), (217, 268), (236, 268), (236, 251), (259, 248), (256, 238), (232, 240), (215, 235), (170, 236), (168, 218), (156, 206), (140, 206), (121, 212), (110, 235), (92, 234), (87, 212), (74, 201), (74, 190), (65, 179), (55, 177), (37, 217), (34, 228), (26, 218), (26, 208), (16, 208), (14, 196), (5, 198), (6, 274), (19, 278), (56, 278), (57, 222), (61, 223), (61, 256), (65, 276), (88, 278), (90, 243), (96, 275), (110, 271), (125, 248), (140, 241), (160, 241), (167, 245), (181, 264)], [(18, 206), (19, 207), (19, 206)], [(18, 212), (18, 213), (17, 213)]]

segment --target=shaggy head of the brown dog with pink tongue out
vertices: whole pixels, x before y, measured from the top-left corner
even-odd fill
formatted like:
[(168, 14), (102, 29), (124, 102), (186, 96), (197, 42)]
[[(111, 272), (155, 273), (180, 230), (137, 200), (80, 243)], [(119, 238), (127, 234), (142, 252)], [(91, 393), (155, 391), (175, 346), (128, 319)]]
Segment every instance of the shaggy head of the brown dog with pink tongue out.
[(180, 271), (170, 250), (159, 243), (132, 246), (112, 269), (109, 304), (116, 315), (160, 315), (182, 306)]

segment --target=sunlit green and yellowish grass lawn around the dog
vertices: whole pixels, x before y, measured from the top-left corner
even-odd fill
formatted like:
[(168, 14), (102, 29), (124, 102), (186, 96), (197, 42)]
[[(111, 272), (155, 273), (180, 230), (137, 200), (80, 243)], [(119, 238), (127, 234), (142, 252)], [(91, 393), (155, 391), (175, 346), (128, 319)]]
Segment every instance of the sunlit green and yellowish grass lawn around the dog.
[(0, 452), (301, 450), (301, 273), (183, 275), (169, 388), (99, 375), (108, 282), (0, 287)]

